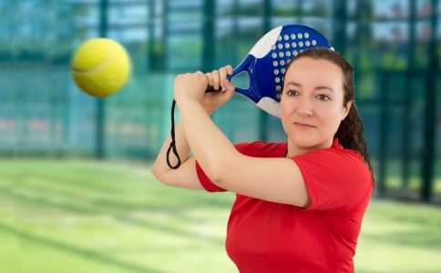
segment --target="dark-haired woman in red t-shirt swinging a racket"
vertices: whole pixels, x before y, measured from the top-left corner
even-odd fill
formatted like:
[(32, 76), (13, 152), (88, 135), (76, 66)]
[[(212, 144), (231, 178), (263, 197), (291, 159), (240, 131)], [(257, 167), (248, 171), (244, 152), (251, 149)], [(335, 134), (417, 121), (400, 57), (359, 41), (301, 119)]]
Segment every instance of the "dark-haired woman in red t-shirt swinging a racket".
[[(233, 94), (226, 80), (231, 72), (225, 66), (176, 77), (177, 147), (188, 159), (170, 169), (168, 139), (153, 174), (173, 186), (236, 193), (226, 248), (241, 273), (354, 272), (374, 177), (354, 105), (352, 66), (327, 49), (296, 56), (281, 96), (286, 143), (235, 146), (210, 119)], [(208, 85), (226, 91), (205, 94)]]

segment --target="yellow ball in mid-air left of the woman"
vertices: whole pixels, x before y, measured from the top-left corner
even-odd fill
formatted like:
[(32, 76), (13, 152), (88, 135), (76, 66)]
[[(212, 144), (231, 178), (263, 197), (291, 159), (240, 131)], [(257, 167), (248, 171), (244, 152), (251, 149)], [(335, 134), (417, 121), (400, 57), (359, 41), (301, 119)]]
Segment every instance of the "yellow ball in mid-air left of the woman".
[(128, 82), (131, 65), (126, 49), (108, 38), (93, 38), (79, 45), (71, 72), (77, 86), (90, 96), (118, 92)]

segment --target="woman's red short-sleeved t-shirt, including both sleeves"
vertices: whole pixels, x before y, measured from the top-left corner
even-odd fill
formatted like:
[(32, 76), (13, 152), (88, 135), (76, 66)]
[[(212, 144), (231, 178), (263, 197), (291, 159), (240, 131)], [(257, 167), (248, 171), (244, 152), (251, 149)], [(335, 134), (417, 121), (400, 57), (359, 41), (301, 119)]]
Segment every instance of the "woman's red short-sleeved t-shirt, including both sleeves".
[[(286, 143), (262, 141), (235, 147), (250, 157), (285, 157), (287, 151)], [(227, 226), (228, 255), (241, 273), (354, 272), (357, 238), (373, 190), (363, 157), (334, 139), (332, 147), (291, 159), (303, 174), (310, 205), (236, 194)], [(207, 191), (225, 191), (198, 162), (196, 170)]]

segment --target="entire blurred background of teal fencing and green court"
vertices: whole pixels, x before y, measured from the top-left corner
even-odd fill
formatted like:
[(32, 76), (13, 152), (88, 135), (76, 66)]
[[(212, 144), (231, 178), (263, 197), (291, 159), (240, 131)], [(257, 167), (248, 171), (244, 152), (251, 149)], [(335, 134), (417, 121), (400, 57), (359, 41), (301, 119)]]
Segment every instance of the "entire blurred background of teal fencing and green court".
[[(377, 179), (357, 272), (441, 272), (440, 14), (437, 0), (0, 0), (0, 272), (236, 272), (233, 195), (165, 187), (149, 165), (174, 76), (236, 66), (283, 24), (317, 29), (355, 68)], [(132, 58), (106, 99), (70, 74), (97, 36)], [(213, 119), (234, 143), (286, 141), (242, 96)]]

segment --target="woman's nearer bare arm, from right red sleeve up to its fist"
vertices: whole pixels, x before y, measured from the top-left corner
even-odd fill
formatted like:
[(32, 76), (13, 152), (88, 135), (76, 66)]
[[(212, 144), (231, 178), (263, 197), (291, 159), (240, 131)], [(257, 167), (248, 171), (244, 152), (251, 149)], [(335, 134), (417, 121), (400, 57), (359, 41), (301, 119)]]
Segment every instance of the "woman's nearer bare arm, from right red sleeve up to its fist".
[[(231, 83), (223, 84), (232, 92)], [(194, 157), (211, 181), (244, 196), (306, 207), (309, 198), (299, 167), (288, 158), (241, 155), (205, 113), (201, 101), (206, 86), (207, 78), (200, 73), (180, 75), (175, 99)]]

